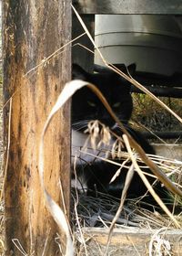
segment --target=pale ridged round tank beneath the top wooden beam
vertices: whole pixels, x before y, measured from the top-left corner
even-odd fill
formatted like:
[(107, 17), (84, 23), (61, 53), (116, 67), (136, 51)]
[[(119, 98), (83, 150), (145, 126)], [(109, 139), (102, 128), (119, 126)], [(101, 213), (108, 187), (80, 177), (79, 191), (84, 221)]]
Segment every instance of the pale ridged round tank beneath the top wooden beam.
[[(181, 24), (180, 16), (97, 15), (96, 45), (111, 63), (170, 76), (182, 72)], [(103, 65), (97, 53), (95, 63)]]

